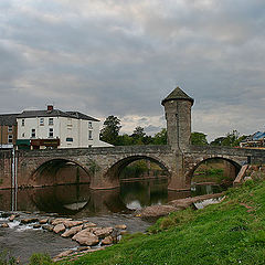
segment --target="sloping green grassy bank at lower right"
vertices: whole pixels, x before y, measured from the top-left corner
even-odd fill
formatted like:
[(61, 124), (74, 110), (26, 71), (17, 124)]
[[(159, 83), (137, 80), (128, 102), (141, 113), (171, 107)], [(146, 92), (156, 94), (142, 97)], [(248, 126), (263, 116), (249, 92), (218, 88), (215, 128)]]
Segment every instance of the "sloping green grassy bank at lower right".
[(220, 204), (173, 213), (148, 235), (61, 264), (265, 264), (265, 182), (250, 181)]

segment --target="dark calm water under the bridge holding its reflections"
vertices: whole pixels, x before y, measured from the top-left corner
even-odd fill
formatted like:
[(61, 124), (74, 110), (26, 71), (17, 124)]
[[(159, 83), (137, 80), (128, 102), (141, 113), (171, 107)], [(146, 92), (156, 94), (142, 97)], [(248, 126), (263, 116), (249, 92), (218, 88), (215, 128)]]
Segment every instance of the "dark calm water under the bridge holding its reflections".
[[(162, 204), (189, 195), (216, 193), (220, 186), (193, 186), (191, 191), (168, 191), (167, 179), (121, 182), (119, 189), (91, 190), (88, 184), (68, 184), (15, 192), (17, 211), (59, 213), (75, 218), (109, 213), (130, 213), (131, 210)], [(0, 210), (13, 210), (12, 190), (0, 191)]]

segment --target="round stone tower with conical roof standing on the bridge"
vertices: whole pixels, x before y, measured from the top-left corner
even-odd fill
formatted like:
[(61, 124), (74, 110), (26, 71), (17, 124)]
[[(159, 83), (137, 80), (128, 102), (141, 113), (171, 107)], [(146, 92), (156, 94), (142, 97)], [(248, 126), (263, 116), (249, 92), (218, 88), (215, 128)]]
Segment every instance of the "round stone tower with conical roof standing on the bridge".
[(190, 145), (193, 102), (193, 98), (177, 87), (161, 103), (167, 119), (168, 145), (173, 149), (182, 150)]

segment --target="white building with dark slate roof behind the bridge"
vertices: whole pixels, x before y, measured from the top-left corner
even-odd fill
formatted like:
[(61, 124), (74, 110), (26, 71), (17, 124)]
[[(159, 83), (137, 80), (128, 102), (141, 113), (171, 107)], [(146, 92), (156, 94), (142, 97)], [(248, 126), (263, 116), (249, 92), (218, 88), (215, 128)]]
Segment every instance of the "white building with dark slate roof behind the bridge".
[(24, 110), (17, 117), (18, 142), (33, 149), (109, 147), (99, 140), (99, 120), (78, 112)]

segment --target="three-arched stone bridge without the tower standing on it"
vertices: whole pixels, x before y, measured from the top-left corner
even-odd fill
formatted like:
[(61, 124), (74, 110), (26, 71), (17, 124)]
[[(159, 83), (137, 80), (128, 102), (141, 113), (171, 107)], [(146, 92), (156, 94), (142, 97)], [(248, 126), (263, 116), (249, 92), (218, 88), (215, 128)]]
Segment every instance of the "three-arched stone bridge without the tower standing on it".
[[(2, 188), (11, 187), (11, 157), (10, 151), (1, 152)], [(50, 186), (52, 166), (56, 168), (60, 162), (72, 162), (85, 170), (91, 189), (113, 189), (119, 187), (119, 172), (126, 166), (139, 159), (148, 159), (167, 172), (169, 190), (189, 190), (193, 172), (203, 161), (226, 160), (239, 171), (242, 165), (250, 161), (264, 163), (265, 151), (199, 146), (189, 146), (180, 151), (170, 146), (129, 146), (17, 151), (15, 159), (18, 187)], [(42, 173), (45, 169), (49, 169), (47, 176)]]

